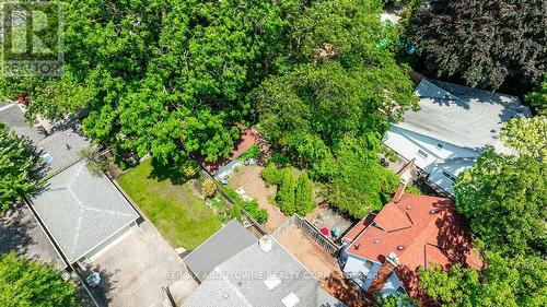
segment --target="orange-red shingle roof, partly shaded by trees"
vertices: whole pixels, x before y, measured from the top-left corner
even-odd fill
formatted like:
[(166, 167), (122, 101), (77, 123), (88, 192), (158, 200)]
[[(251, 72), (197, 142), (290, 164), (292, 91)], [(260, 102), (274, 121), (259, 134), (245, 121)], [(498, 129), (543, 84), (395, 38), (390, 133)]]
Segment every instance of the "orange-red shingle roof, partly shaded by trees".
[(392, 201), (377, 215), (361, 221), (344, 240), (350, 243), (348, 253), (380, 263), (395, 252), (400, 261), (395, 269), (397, 276), (408, 294), (422, 302), (419, 267), (438, 263), (446, 269), (456, 262), (475, 269), (484, 265), (447, 198), (403, 194), (398, 202)]

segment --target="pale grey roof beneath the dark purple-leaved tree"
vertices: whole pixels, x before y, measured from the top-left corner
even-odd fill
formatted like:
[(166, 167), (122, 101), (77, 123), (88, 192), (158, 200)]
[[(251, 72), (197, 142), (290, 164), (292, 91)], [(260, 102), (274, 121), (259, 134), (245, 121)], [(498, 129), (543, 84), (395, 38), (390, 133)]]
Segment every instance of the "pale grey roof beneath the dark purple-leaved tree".
[(415, 93), (421, 109), (407, 111), (396, 126), (463, 147), (499, 147), (503, 123), (531, 116), (517, 97), (424, 78)]

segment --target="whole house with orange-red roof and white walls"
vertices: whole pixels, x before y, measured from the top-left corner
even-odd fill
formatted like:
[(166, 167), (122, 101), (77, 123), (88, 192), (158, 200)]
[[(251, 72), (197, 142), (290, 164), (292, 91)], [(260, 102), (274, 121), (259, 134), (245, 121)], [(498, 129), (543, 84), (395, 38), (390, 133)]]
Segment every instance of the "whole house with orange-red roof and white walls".
[(459, 262), (481, 269), (484, 263), (451, 199), (404, 193), (401, 185), (377, 215), (370, 214), (342, 238), (339, 261), (363, 292), (406, 293), (427, 305), (420, 267)]

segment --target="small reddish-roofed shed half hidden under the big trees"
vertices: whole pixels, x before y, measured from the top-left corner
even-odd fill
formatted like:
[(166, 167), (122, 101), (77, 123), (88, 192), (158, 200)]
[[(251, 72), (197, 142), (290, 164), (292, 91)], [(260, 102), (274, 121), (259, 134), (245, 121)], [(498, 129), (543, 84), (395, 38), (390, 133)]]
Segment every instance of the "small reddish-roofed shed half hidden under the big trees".
[(203, 157), (198, 157), (201, 166), (219, 180), (226, 177), (232, 169), (241, 165), (242, 162), (237, 158), (256, 144), (258, 140), (256, 133), (249, 128), (240, 127), (240, 131), (241, 137), (235, 141), (234, 149), (226, 158), (217, 162), (207, 162)]

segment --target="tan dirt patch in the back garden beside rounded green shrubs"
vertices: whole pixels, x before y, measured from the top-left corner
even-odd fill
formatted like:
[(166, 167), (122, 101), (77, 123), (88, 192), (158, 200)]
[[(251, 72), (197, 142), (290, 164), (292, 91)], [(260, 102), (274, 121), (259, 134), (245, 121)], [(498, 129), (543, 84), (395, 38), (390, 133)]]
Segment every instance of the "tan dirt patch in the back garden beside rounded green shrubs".
[(268, 211), (268, 222), (265, 228), (267, 232), (274, 232), (287, 221), (287, 216), (279, 210), (279, 208), (268, 201), (268, 197), (274, 199), (276, 194), (276, 187), (266, 187), (260, 172), (264, 167), (257, 165), (242, 166), (236, 172), (230, 175), (229, 185), (233, 189), (243, 187), (245, 193), (258, 201), (258, 205)]

